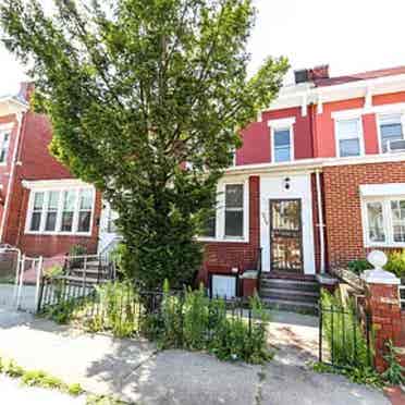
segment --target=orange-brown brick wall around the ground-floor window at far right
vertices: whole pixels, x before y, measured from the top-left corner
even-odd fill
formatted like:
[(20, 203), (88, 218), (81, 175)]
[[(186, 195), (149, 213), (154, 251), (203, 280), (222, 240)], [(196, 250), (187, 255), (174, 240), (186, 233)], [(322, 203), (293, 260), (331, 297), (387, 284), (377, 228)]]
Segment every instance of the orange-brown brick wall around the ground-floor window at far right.
[(330, 267), (364, 258), (360, 184), (405, 183), (405, 162), (336, 165), (323, 169)]

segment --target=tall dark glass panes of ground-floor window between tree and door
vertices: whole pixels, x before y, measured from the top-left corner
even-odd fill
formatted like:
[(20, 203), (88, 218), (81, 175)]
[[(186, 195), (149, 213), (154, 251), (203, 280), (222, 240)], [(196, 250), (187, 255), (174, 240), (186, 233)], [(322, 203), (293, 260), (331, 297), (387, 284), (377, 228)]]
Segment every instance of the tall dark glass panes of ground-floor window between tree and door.
[(243, 184), (225, 186), (225, 237), (243, 237)]

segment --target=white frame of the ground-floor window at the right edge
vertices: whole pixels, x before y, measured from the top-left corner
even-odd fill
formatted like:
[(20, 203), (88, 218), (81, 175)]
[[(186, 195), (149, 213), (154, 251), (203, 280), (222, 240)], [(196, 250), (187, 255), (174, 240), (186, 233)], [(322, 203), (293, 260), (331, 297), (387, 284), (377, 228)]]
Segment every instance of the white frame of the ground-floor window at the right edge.
[[(405, 200), (405, 195), (394, 196), (376, 196), (361, 198), (361, 219), (363, 219), (363, 236), (365, 247), (405, 247), (405, 242), (394, 242), (393, 235), (393, 219), (391, 211), (391, 201)], [(367, 204), (381, 202), (383, 216), (383, 230), (385, 234), (385, 242), (373, 242), (369, 238), (368, 212)]]

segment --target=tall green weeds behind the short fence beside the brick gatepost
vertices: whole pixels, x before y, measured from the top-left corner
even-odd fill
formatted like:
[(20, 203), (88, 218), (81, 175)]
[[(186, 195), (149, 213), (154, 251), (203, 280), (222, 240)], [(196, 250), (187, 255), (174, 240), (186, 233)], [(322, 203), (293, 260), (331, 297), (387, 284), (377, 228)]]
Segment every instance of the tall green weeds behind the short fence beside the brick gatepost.
[(366, 369), (371, 364), (372, 348), (359, 324), (353, 303), (342, 304), (339, 296), (321, 292), (323, 333), (336, 366)]

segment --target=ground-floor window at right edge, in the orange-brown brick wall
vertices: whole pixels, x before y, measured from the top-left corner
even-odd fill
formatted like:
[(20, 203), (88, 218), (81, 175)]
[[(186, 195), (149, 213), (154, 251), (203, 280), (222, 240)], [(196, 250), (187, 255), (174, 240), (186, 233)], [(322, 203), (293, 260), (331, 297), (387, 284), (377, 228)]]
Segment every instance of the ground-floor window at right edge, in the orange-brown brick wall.
[(367, 245), (405, 247), (405, 197), (364, 202)]

